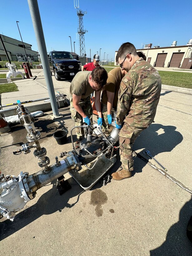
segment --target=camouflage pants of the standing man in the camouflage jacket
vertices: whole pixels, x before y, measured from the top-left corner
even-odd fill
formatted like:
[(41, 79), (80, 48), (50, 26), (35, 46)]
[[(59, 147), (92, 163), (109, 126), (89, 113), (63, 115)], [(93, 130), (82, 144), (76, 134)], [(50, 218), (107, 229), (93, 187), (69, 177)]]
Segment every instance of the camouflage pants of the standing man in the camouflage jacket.
[(126, 123), (122, 127), (119, 134), (119, 147), (121, 163), (124, 170), (133, 171), (133, 151), (132, 147), (139, 134), (145, 130), (146, 127), (128, 126)]

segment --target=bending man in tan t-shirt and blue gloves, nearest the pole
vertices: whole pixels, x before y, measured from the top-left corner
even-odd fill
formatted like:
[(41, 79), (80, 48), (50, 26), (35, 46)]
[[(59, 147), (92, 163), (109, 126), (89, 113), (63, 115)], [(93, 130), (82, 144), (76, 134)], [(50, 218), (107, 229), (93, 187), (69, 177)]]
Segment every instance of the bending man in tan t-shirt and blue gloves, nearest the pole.
[[(96, 67), (92, 72), (78, 72), (70, 86), (70, 110), (71, 118), (75, 121), (75, 126), (87, 125), (92, 123), (91, 117), (93, 114), (90, 95), (95, 91), (95, 106), (99, 115), (98, 125), (102, 125), (101, 113), (101, 90), (107, 81), (107, 72), (103, 67)], [(77, 139), (84, 135), (82, 128), (76, 128)]]

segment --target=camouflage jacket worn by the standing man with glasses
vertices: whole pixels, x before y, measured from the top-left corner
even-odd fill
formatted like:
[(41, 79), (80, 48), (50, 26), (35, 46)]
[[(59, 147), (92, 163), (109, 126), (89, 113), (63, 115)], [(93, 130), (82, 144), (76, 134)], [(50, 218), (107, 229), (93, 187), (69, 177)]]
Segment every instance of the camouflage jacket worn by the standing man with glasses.
[(160, 98), (161, 78), (158, 71), (139, 58), (121, 81), (118, 104), (118, 125), (148, 127), (153, 122)]

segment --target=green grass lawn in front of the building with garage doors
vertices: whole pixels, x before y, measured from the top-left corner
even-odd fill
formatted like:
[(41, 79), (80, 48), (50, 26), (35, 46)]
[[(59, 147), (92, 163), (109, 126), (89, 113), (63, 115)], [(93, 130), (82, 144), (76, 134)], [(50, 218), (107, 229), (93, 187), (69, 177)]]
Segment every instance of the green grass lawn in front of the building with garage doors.
[[(107, 73), (113, 67), (105, 67)], [(192, 89), (192, 72), (159, 71), (162, 84)]]

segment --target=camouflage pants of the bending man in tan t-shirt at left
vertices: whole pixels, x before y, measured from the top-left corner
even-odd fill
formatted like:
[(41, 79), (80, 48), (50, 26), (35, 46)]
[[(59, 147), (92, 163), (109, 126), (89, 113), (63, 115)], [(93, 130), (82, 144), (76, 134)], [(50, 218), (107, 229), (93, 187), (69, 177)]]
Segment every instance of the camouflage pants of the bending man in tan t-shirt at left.
[[(79, 106), (82, 108), (83, 112), (89, 117), (92, 123), (93, 109), (91, 106), (90, 97), (87, 97), (87, 99), (85, 100), (81, 100), (79, 102)], [(74, 108), (73, 99), (71, 96), (70, 96), (70, 111), (71, 111), (71, 118), (73, 119), (73, 121), (75, 121), (75, 126), (83, 125), (83, 117)], [(84, 135), (83, 128), (76, 128), (75, 130), (76, 130), (77, 139), (79, 139), (81, 136)]]

